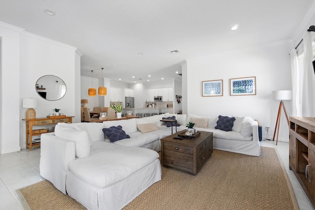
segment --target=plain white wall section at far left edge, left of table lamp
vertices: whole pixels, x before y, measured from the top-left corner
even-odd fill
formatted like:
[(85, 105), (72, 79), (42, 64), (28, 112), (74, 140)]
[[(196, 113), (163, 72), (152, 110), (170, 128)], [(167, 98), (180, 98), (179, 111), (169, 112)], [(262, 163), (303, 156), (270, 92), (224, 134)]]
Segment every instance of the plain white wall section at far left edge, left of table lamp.
[[(0, 22), (0, 153), (20, 150), (20, 33)], [(33, 87), (32, 87), (33, 88)], [(36, 93), (37, 94), (37, 93)], [(25, 131), (23, 131), (25, 133)]]

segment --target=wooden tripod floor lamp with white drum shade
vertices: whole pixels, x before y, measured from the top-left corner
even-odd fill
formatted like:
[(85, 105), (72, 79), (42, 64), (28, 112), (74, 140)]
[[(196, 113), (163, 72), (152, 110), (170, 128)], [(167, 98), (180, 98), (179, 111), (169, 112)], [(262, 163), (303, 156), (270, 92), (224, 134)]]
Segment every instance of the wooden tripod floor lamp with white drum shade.
[[(289, 125), (289, 118), (287, 117), (286, 110), (284, 107), (284, 100), (291, 100), (291, 90), (272, 91), (272, 99), (280, 100), (278, 116), (277, 116), (277, 121), (276, 121), (276, 126), (275, 126), (275, 133), (274, 133), (274, 137), (272, 138), (272, 141), (275, 141), (275, 136), (276, 136), (276, 132), (277, 132), (276, 145), (278, 145), (278, 137), (279, 137), (280, 119), (281, 119), (282, 108), (284, 108), (284, 114), (286, 117), (287, 125)], [(278, 131), (277, 131), (277, 129), (278, 129)]]

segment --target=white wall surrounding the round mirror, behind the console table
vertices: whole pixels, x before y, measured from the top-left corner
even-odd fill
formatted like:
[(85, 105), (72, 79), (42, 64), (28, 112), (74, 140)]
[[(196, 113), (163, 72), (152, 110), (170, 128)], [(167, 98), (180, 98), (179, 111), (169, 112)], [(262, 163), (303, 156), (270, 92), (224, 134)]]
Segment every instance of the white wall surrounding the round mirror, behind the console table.
[[(80, 98), (76, 97), (75, 79), (80, 75), (80, 55), (77, 48), (56, 42), (32, 33), (21, 34), (20, 45), (20, 100), (38, 98), (36, 118), (46, 118), (53, 109), (59, 108), (66, 116), (73, 116), (73, 122), (80, 122)], [(44, 75), (55, 75), (63, 80), (66, 93), (60, 100), (48, 101), (36, 90), (36, 81)], [(77, 110), (77, 111), (76, 111)], [(25, 118), (26, 109), (20, 105), (20, 119)], [(25, 121), (20, 121), (20, 145), (25, 148)]]

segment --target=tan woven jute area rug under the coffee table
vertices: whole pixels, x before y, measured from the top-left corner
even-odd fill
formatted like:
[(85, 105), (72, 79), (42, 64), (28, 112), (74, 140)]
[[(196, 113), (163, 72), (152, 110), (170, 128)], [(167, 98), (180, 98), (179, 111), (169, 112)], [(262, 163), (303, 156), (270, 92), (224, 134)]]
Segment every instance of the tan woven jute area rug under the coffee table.
[[(20, 189), (32, 210), (85, 209), (49, 181)], [(214, 150), (195, 176), (162, 166), (162, 180), (124, 210), (298, 210), (276, 150), (260, 157)]]

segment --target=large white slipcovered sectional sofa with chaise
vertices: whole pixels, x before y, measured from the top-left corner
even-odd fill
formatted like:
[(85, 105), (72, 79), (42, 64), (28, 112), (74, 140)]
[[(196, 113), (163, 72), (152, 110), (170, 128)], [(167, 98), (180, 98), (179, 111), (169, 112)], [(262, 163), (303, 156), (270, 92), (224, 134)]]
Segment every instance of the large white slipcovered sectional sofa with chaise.
[[(250, 117), (235, 117), (232, 131), (215, 129), (218, 117), (176, 114), (103, 123), (59, 123), (55, 133), (41, 135), (40, 175), (88, 209), (122, 209), (161, 180), (157, 151), (160, 139), (170, 135), (171, 128), (160, 120), (171, 116), (180, 124), (177, 131), (195, 121), (196, 130), (213, 132), (214, 149), (260, 155), (257, 122)], [(110, 139), (104, 135), (113, 129), (114, 135), (108, 134)], [(123, 130), (119, 132), (126, 138), (111, 142), (116, 138), (115, 129)]]

